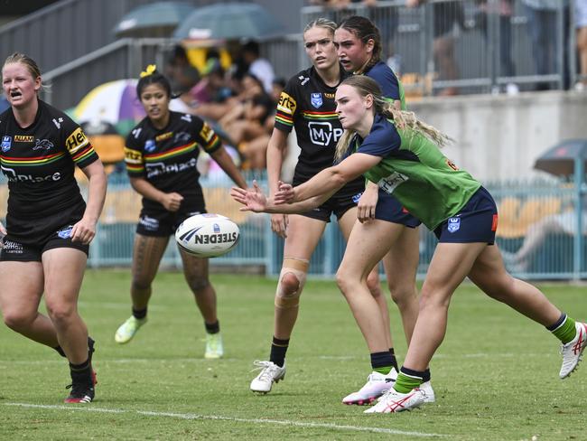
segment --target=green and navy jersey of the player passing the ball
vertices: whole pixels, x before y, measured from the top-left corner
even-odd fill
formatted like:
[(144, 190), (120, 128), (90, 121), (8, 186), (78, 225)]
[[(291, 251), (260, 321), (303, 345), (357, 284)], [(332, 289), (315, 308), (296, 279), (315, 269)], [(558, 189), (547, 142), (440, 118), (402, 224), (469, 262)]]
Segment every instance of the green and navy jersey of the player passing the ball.
[(460, 211), (481, 185), (426, 136), (411, 128), (397, 130), (381, 115), (364, 140), (355, 137), (355, 148), (383, 158), (365, 176), (396, 196), (430, 230)]

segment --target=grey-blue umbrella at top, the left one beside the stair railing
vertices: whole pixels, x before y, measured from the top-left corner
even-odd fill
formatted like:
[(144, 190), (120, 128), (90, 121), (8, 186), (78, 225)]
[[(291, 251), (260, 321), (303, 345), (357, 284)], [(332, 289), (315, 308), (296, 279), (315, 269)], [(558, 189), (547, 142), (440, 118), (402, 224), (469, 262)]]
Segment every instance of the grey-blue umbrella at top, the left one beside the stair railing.
[(169, 37), (194, 9), (182, 2), (142, 5), (126, 14), (113, 32), (118, 37)]

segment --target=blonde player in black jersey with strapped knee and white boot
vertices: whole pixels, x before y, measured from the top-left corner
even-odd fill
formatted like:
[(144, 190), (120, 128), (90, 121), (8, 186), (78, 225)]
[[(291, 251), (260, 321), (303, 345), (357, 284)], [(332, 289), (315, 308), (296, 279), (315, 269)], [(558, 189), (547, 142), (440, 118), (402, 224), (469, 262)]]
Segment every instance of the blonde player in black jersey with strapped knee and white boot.
[[(267, 145), (267, 174), (270, 192), (277, 190), (287, 136), (293, 127), (302, 153), (293, 175), (293, 184), (304, 183), (330, 167), (334, 148), (342, 134), (334, 93), (340, 81), (350, 74), (340, 66), (333, 44), (336, 23), (320, 18), (303, 32), (306, 53), (312, 67), (294, 75), (285, 85), (275, 115), (275, 128)], [(310, 258), (327, 222), (334, 213), (345, 239), (357, 220), (357, 202), (365, 188), (358, 178), (346, 184), (320, 207), (303, 215), (272, 215), (271, 228), (285, 238), (284, 261), (275, 293), (274, 335), (269, 361), (256, 361), (261, 370), (251, 381), (254, 392), (269, 392), (274, 382), (284, 378), (285, 352), (299, 311), (299, 298), (306, 280)], [(376, 283), (369, 286), (382, 314), (387, 303)]]

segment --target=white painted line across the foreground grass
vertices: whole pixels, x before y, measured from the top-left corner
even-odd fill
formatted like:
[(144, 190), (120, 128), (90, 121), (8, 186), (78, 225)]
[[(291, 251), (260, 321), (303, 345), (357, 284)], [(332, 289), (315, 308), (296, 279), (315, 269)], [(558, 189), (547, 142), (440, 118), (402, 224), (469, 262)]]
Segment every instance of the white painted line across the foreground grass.
[(46, 408), (52, 410), (79, 410), (82, 412), (97, 412), (97, 413), (135, 413), (138, 415), (144, 415), (146, 417), (163, 417), (163, 418), (180, 418), (180, 419), (210, 419), (217, 421), (234, 421), (238, 423), (252, 423), (252, 424), (274, 424), (279, 426), (293, 426), (293, 427), (322, 427), (331, 428), (334, 430), (352, 430), (355, 432), (373, 432), (383, 433), (391, 435), (405, 435), (405, 436), (421, 436), (421, 437), (432, 437), (432, 436), (444, 436), (439, 434), (427, 434), (423, 432), (407, 432), (404, 430), (396, 430), (393, 428), (383, 427), (361, 427), (361, 426), (340, 426), (338, 424), (329, 423), (302, 423), (299, 421), (289, 421), (287, 419), (262, 419), (262, 418), (233, 418), (233, 417), (222, 417), (220, 415), (199, 415), (199, 414), (182, 414), (174, 412), (153, 412), (149, 410), (125, 410), (120, 408), (92, 408), (91, 405), (86, 407), (75, 407), (75, 406), (51, 406), (43, 404), (29, 404), (29, 403), (4, 403), (5, 406), (15, 406), (20, 408)]

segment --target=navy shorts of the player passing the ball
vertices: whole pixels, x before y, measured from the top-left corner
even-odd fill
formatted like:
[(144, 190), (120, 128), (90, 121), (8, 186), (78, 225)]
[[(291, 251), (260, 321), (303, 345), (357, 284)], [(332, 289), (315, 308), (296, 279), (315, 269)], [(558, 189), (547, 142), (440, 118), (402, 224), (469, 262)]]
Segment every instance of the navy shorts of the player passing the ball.
[(480, 187), (461, 211), (434, 229), (434, 234), (439, 242), (486, 242), (493, 245), (496, 230), (498, 207), (489, 192)]

